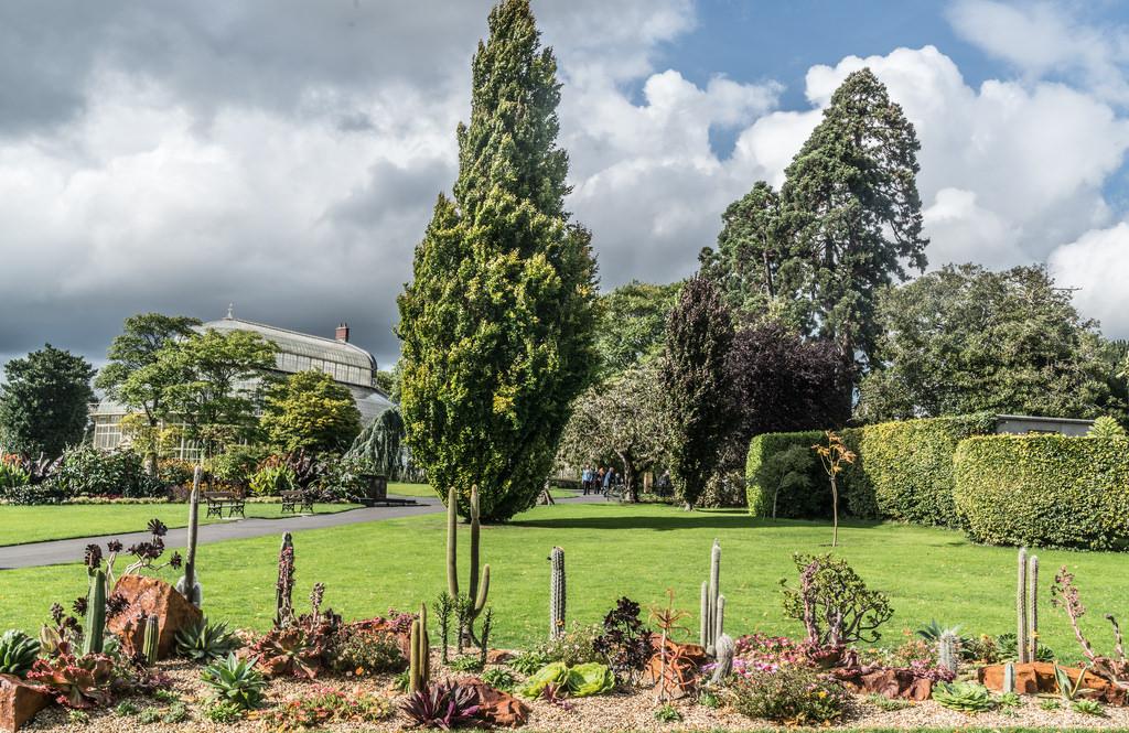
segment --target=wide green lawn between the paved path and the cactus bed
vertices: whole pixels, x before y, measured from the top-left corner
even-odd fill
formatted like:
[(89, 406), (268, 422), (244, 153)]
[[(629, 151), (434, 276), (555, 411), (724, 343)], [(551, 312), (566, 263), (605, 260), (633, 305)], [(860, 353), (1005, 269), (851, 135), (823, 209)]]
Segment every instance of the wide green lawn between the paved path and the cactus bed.
[[(463, 530), (460, 559), (466, 559)], [(548, 625), (550, 549), (564, 548), (570, 620), (596, 622), (621, 595), (645, 605), (664, 600), (697, 616), (709, 547), (721, 541), (721, 590), (726, 629), (798, 635), (779, 611), (779, 581), (795, 578), (794, 551), (824, 552), (829, 526), (811, 522), (773, 525), (736, 511), (692, 514), (663, 505), (570, 504), (537, 507), (499, 526), (483, 527), (483, 560), (491, 564), (490, 602), (499, 644), (537, 640)], [(180, 539), (176, 533), (173, 540)], [(279, 538), (203, 546), (200, 574), (204, 607), (213, 619), (263, 629), (273, 612)], [(296, 605), (315, 582), (327, 586), (326, 603), (347, 618), (415, 608), (445, 587), (443, 515), (309, 530), (295, 534)], [(170, 543), (172, 544), (172, 543)], [(970, 544), (957, 532), (898, 524), (850, 524), (840, 530), (838, 555), (850, 560), (872, 587), (886, 591), (895, 610), (884, 644), (904, 628), (933, 618), (960, 623), (965, 634), (999, 634), (1015, 626), (1015, 551)], [(1102, 614), (1129, 605), (1124, 555), (1040, 552), (1041, 632), (1064, 658), (1078, 655), (1065, 617), (1048, 603), (1047, 588), (1062, 562), (1077, 574), (1088, 609), (1086, 630), (1099, 648), (1111, 637)], [(174, 579), (172, 574), (166, 577)], [(464, 575), (465, 577), (465, 570)], [(0, 571), (0, 630), (34, 630), (52, 601), (69, 605), (85, 592), (80, 566)], [(690, 625), (697, 621), (690, 619)]]

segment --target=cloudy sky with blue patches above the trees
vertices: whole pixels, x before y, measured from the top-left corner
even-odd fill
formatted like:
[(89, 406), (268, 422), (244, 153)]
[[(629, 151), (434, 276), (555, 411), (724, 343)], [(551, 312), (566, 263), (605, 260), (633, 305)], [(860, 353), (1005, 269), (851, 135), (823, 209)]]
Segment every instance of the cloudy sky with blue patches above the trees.
[[(0, 3), (0, 364), (123, 318), (235, 315), (391, 365), (457, 175), (489, 0)], [(921, 141), (930, 268), (1044, 262), (1129, 338), (1115, 2), (533, 0), (602, 287), (691, 274), (869, 67)]]

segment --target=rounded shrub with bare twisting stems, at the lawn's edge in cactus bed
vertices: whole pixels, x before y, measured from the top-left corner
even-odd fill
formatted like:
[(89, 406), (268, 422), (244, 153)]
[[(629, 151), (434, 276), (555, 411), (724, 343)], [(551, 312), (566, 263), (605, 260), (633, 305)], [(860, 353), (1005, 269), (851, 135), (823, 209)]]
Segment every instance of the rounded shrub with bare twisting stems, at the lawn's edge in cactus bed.
[(799, 584), (793, 588), (787, 578), (780, 581), (781, 603), (787, 618), (804, 622), (809, 644), (835, 647), (882, 638), (878, 627), (894, 614), (885, 593), (868, 588), (841, 558), (797, 552), (793, 560)]

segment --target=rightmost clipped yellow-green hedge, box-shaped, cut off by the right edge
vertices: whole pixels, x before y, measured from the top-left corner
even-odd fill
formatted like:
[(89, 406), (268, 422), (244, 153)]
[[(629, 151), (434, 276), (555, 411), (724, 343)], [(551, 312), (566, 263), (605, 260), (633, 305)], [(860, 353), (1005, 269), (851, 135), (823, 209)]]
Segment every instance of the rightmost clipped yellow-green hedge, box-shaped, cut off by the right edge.
[(989, 544), (1129, 548), (1129, 440), (994, 435), (961, 443), (956, 509)]

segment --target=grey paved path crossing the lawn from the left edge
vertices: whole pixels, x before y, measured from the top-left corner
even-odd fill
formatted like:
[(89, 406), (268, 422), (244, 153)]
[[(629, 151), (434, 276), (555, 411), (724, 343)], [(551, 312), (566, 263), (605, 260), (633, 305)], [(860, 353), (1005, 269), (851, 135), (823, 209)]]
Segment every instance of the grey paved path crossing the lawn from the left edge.
[[(434, 498), (412, 497), (419, 501), (415, 506), (382, 506), (371, 508), (349, 509), (347, 512), (335, 512), (333, 514), (315, 514), (306, 516), (292, 516), (285, 520), (238, 520), (234, 522), (217, 522), (216, 524), (200, 525), (196, 541), (200, 544), (210, 542), (225, 542), (227, 540), (243, 540), (264, 534), (278, 534), (283, 532), (299, 532), (301, 530), (321, 530), (331, 526), (342, 526), (345, 524), (360, 524), (364, 522), (377, 522), (380, 520), (393, 520), (402, 516), (415, 516), (418, 514), (435, 514), (443, 512), (443, 503)], [(598, 495), (576, 496), (564, 501), (593, 501), (603, 500)], [(561, 500), (561, 499), (558, 499)], [(185, 527), (168, 531), (168, 546), (183, 547)], [(0, 547), (0, 570), (12, 568), (28, 568), (42, 565), (62, 565), (67, 562), (79, 562), (86, 546), (90, 543), (105, 544), (110, 540), (121, 540), (125, 547), (150, 539), (148, 532), (132, 532), (128, 534), (106, 534), (102, 536), (76, 538), (72, 540), (50, 540), (46, 542), (28, 542), (27, 544), (11, 544)]]

